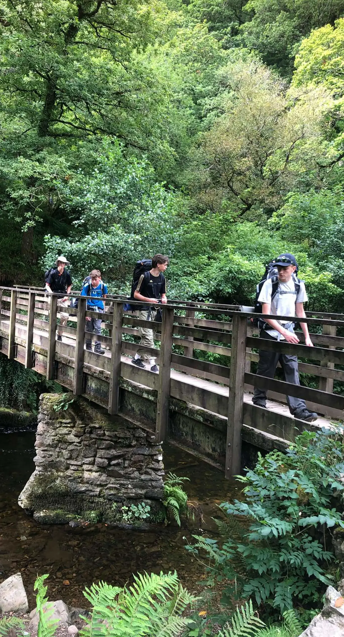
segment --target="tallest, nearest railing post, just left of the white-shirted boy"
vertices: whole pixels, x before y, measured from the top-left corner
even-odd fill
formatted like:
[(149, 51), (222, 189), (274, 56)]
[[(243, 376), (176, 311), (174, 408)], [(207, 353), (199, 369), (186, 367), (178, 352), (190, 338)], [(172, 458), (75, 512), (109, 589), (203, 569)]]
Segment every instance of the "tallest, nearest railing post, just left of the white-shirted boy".
[(247, 318), (233, 315), (226, 441), (226, 478), (240, 473)]

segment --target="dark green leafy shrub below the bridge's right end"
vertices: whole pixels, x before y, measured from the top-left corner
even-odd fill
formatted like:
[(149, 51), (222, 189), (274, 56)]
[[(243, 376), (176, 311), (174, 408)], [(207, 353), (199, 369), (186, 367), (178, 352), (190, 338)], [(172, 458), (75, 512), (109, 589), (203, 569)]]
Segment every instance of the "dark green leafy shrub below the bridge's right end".
[(305, 431), (238, 476), (245, 499), (222, 503), (226, 520), (216, 520), (223, 543), (194, 536), (187, 547), (206, 554), (211, 582), (229, 580), (225, 599), (252, 597), (269, 614), (319, 606), (333, 583), (331, 535), (344, 527), (343, 454), (341, 431)]

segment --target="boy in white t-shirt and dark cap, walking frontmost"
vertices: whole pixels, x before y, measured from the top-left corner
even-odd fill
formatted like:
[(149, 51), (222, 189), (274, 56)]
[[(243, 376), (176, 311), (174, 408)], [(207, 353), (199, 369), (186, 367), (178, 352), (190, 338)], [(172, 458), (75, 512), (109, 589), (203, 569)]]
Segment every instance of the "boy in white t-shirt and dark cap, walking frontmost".
[[(262, 286), (261, 293), (259, 294), (258, 301), (262, 304), (263, 314), (273, 314), (285, 317), (305, 317), (305, 310), (303, 303), (308, 301), (306, 294), (305, 283), (300, 281), (299, 290), (296, 291), (295, 282), (292, 278), (293, 273), (297, 269), (297, 263), (294, 255), (283, 254), (277, 257), (275, 261), (276, 268), (278, 269), (278, 289), (275, 296), (272, 296), (273, 285), (271, 279), (268, 279)], [(308, 326), (306, 323), (301, 323), (301, 329), (305, 334), (305, 344), (308, 347), (313, 347), (313, 343), (310, 340), (310, 334), (308, 333)], [(299, 343), (299, 339), (294, 333), (294, 320), (280, 321), (266, 318), (266, 326), (261, 330), (259, 335), (261, 338), (267, 340), (285, 340), (287, 343)], [(273, 378), (277, 363), (280, 364), (283, 369), (285, 380), (288, 383), (299, 385), (299, 368), (297, 364), (297, 356), (290, 354), (280, 354), (280, 352), (266, 352), (259, 350), (259, 362), (257, 368), (257, 375), (268, 376)], [(258, 379), (257, 379), (257, 382)], [(252, 398), (254, 404), (261, 407), (266, 407), (266, 390), (255, 387), (254, 397)], [(289, 410), (295, 418), (306, 420), (307, 422), (313, 422), (317, 420), (317, 413), (310, 412), (306, 408), (305, 401), (294, 396), (287, 396), (287, 402)]]

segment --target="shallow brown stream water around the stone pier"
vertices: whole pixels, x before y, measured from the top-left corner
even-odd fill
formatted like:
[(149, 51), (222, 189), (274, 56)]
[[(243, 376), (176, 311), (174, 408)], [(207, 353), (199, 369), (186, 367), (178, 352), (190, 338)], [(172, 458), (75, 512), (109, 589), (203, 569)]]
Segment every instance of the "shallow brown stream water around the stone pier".
[[(174, 570), (190, 591), (199, 590), (203, 567), (184, 548), (197, 529), (161, 527), (154, 533), (124, 531), (104, 524), (72, 528), (41, 526), (18, 506), (17, 498), (34, 471), (35, 434), (0, 430), (0, 581), (21, 571), (34, 607), (33, 583), (37, 573), (50, 573), (48, 594), (74, 606), (86, 606), (85, 585), (104, 580), (123, 586), (136, 572)], [(187, 476), (189, 499), (203, 510), (199, 526), (211, 533), (217, 505), (235, 497), (238, 485), (182, 450), (164, 445), (165, 470)], [(186, 538), (186, 540), (185, 540)], [(69, 582), (69, 583), (66, 583)]]

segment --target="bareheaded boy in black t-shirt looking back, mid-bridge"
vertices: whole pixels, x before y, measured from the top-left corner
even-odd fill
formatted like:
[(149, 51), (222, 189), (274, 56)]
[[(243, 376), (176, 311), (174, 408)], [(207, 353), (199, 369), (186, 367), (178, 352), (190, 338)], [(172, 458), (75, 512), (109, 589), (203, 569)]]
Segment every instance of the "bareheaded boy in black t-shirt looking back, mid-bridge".
[[(164, 271), (168, 267), (169, 259), (163, 254), (155, 254), (152, 259), (152, 269), (140, 276), (138, 287), (134, 292), (134, 299), (146, 303), (167, 303), (166, 298), (166, 281)], [(138, 318), (143, 320), (155, 320), (159, 307), (152, 305), (141, 305)], [(139, 327), (141, 336), (140, 345), (154, 348), (154, 334), (152, 329), (148, 327)], [(141, 357), (147, 359), (150, 364), (150, 371), (157, 373), (159, 368), (155, 364), (155, 357), (147, 354), (147, 350), (138, 350), (131, 361), (137, 367), (144, 368)]]

